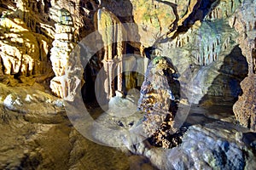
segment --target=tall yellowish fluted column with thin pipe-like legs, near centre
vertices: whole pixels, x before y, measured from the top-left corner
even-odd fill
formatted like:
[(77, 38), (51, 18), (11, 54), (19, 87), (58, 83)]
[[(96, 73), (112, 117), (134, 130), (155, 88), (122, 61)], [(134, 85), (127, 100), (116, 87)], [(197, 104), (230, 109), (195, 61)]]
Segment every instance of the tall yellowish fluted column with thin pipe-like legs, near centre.
[[(106, 8), (100, 8), (96, 11), (94, 23), (96, 30), (101, 35), (99, 41), (104, 44), (103, 56), (99, 56), (99, 58), (102, 59), (103, 69), (107, 74), (104, 89), (107, 99), (110, 99), (115, 90), (123, 91), (122, 59), (125, 53), (126, 31), (119, 19)], [(115, 71), (117, 72), (117, 89), (115, 89), (114, 84)]]

